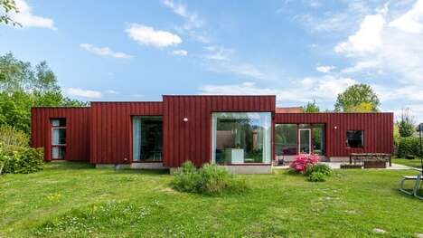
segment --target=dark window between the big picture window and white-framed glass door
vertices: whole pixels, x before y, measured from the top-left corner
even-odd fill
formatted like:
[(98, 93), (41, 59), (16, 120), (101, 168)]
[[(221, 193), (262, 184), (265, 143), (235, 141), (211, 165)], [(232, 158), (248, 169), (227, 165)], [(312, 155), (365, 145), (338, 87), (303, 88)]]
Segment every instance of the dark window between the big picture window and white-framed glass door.
[(296, 124), (275, 126), (275, 153), (277, 156), (296, 155)]

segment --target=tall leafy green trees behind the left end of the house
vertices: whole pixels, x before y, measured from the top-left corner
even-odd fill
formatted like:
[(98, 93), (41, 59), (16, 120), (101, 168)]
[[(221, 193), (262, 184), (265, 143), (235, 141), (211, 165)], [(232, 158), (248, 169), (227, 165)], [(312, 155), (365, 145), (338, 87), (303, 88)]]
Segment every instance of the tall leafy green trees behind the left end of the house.
[(0, 125), (29, 133), (32, 107), (86, 105), (62, 95), (46, 62), (33, 67), (12, 53), (0, 56)]

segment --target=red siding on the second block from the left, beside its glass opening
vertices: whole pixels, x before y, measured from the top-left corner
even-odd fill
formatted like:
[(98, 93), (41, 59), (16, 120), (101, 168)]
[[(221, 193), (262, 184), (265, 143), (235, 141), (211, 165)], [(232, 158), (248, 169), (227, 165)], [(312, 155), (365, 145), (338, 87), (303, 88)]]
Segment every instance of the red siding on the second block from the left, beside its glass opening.
[(131, 117), (162, 116), (162, 105), (161, 101), (91, 102), (91, 163), (131, 163)]

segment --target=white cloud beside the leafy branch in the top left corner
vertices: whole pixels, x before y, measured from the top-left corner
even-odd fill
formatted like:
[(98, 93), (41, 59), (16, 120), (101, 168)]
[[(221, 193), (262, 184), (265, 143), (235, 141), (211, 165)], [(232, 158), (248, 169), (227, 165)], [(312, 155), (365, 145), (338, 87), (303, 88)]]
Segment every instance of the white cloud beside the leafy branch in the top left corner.
[(16, 4), (16, 8), (19, 10), (19, 13), (17, 14), (10, 14), (11, 18), (15, 22), (22, 24), (23, 27), (40, 27), (57, 30), (52, 18), (33, 14), (32, 7), (24, 0), (14, 0), (14, 3)]

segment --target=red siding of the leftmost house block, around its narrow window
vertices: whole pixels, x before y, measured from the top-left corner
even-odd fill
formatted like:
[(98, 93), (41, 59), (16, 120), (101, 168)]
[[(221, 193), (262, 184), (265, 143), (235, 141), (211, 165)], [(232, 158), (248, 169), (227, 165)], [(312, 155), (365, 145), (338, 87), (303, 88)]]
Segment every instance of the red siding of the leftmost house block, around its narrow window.
[(33, 108), (31, 143), (44, 148), (44, 159), (52, 160), (51, 119), (66, 119), (66, 160), (89, 161), (89, 108)]

